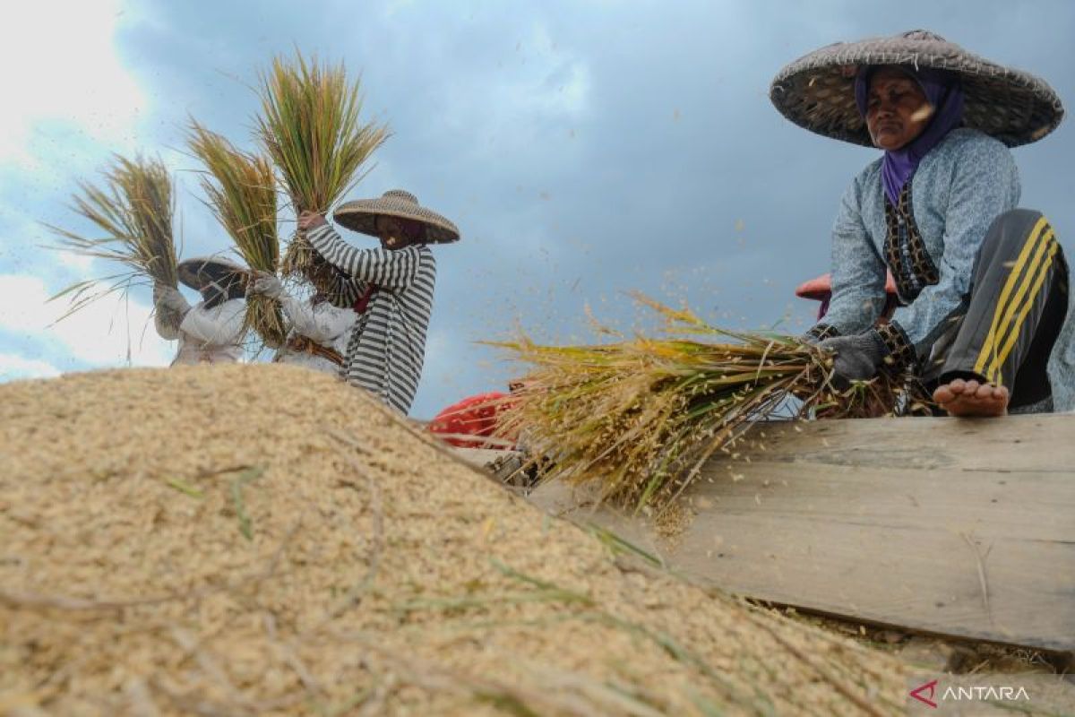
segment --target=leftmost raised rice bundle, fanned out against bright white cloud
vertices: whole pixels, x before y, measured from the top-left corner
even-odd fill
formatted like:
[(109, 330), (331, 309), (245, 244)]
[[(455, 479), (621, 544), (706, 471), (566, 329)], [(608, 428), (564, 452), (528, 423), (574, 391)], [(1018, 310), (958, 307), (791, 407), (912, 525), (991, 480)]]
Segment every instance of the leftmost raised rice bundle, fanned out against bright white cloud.
[[(172, 178), (163, 162), (115, 155), (102, 174), (103, 186), (78, 183), (81, 193), (73, 197), (71, 209), (92, 221), (104, 232), (103, 236), (88, 238), (48, 224), (45, 227), (60, 238), (59, 245), (53, 248), (116, 261), (127, 271), (76, 282), (52, 297), (70, 298), (70, 309), (61, 318), (112, 292), (126, 295), (131, 286), (143, 284), (145, 278), (173, 288), (178, 286), (172, 233)], [(108, 285), (99, 289), (99, 283)]]

